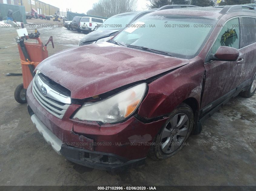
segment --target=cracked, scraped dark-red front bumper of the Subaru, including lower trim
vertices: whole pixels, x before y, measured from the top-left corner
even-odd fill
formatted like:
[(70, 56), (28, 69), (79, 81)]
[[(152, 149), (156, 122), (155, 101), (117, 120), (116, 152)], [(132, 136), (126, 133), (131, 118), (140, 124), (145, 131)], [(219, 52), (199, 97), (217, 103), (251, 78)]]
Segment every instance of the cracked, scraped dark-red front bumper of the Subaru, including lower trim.
[(31, 84), (27, 89), (27, 102), (32, 122), (58, 154), (101, 170), (117, 171), (143, 164), (153, 138), (167, 120), (142, 122), (131, 116), (123, 123), (100, 126), (96, 122), (71, 119), (80, 107), (75, 104), (59, 119), (38, 103)]

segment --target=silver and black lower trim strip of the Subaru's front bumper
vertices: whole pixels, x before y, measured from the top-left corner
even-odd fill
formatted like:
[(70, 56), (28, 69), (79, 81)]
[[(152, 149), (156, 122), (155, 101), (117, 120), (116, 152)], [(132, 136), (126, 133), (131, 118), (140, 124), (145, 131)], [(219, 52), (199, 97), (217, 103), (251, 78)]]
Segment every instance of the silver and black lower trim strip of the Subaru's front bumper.
[(56, 137), (35, 114), (32, 114), (31, 120), (40, 134), (44, 137), (45, 141), (52, 146), (53, 150), (74, 163), (90, 168), (117, 172), (142, 165), (145, 162), (146, 158), (128, 161), (127, 159), (115, 154), (89, 151), (82, 148), (64, 145), (63, 142)]

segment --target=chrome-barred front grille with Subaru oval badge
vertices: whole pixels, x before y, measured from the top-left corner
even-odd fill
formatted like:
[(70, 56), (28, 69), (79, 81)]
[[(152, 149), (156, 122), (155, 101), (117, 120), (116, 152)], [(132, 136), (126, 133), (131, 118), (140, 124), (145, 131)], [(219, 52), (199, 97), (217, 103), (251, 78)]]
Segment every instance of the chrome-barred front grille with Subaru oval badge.
[(41, 73), (36, 74), (33, 79), (32, 93), (42, 107), (62, 119), (71, 104), (70, 91), (49, 80)]

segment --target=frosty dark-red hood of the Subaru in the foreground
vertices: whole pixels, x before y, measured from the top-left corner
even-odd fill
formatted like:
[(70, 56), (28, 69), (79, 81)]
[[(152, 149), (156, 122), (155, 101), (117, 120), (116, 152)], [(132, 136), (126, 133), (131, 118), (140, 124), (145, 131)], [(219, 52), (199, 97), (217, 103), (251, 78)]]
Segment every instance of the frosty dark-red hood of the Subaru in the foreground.
[(141, 81), (189, 63), (104, 42), (64, 50), (43, 60), (36, 69), (84, 99)]

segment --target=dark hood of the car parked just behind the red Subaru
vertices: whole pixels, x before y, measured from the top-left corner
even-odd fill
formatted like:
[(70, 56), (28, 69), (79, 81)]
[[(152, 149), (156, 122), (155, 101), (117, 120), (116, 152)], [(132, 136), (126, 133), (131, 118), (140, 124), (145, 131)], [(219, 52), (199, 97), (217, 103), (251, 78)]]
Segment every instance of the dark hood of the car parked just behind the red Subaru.
[(87, 34), (85, 37), (81, 38), (81, 42), (89, 42), (89, 41), (96, 41), (101, 38), (109, 37), (112, 33), (116, 33), (119, 30), (95, 30), (89, 34)]

